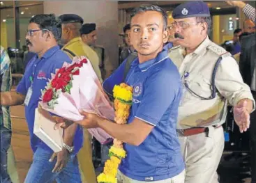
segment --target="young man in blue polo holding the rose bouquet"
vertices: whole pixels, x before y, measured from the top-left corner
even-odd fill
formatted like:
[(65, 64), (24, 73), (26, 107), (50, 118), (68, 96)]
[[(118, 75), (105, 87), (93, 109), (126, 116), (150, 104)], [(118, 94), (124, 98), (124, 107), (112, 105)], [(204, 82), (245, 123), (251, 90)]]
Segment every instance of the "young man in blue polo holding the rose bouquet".
[(163, 45), (168, 40), (167, 15), (158, 6), (135, 8), (130, 22), (130, 42), (138, 52), (126, 78), (126, 61), (103, 83), (112, 94), (114, 85), (133, 86), (133, 105), (128, 124), (118, 125), (91, 113), (78, 122), (100, 127), (124, 142), (127, 157), (119, 166), (119, 183), (184, 182), (184, 164), (176, 120), (181, 81)]

